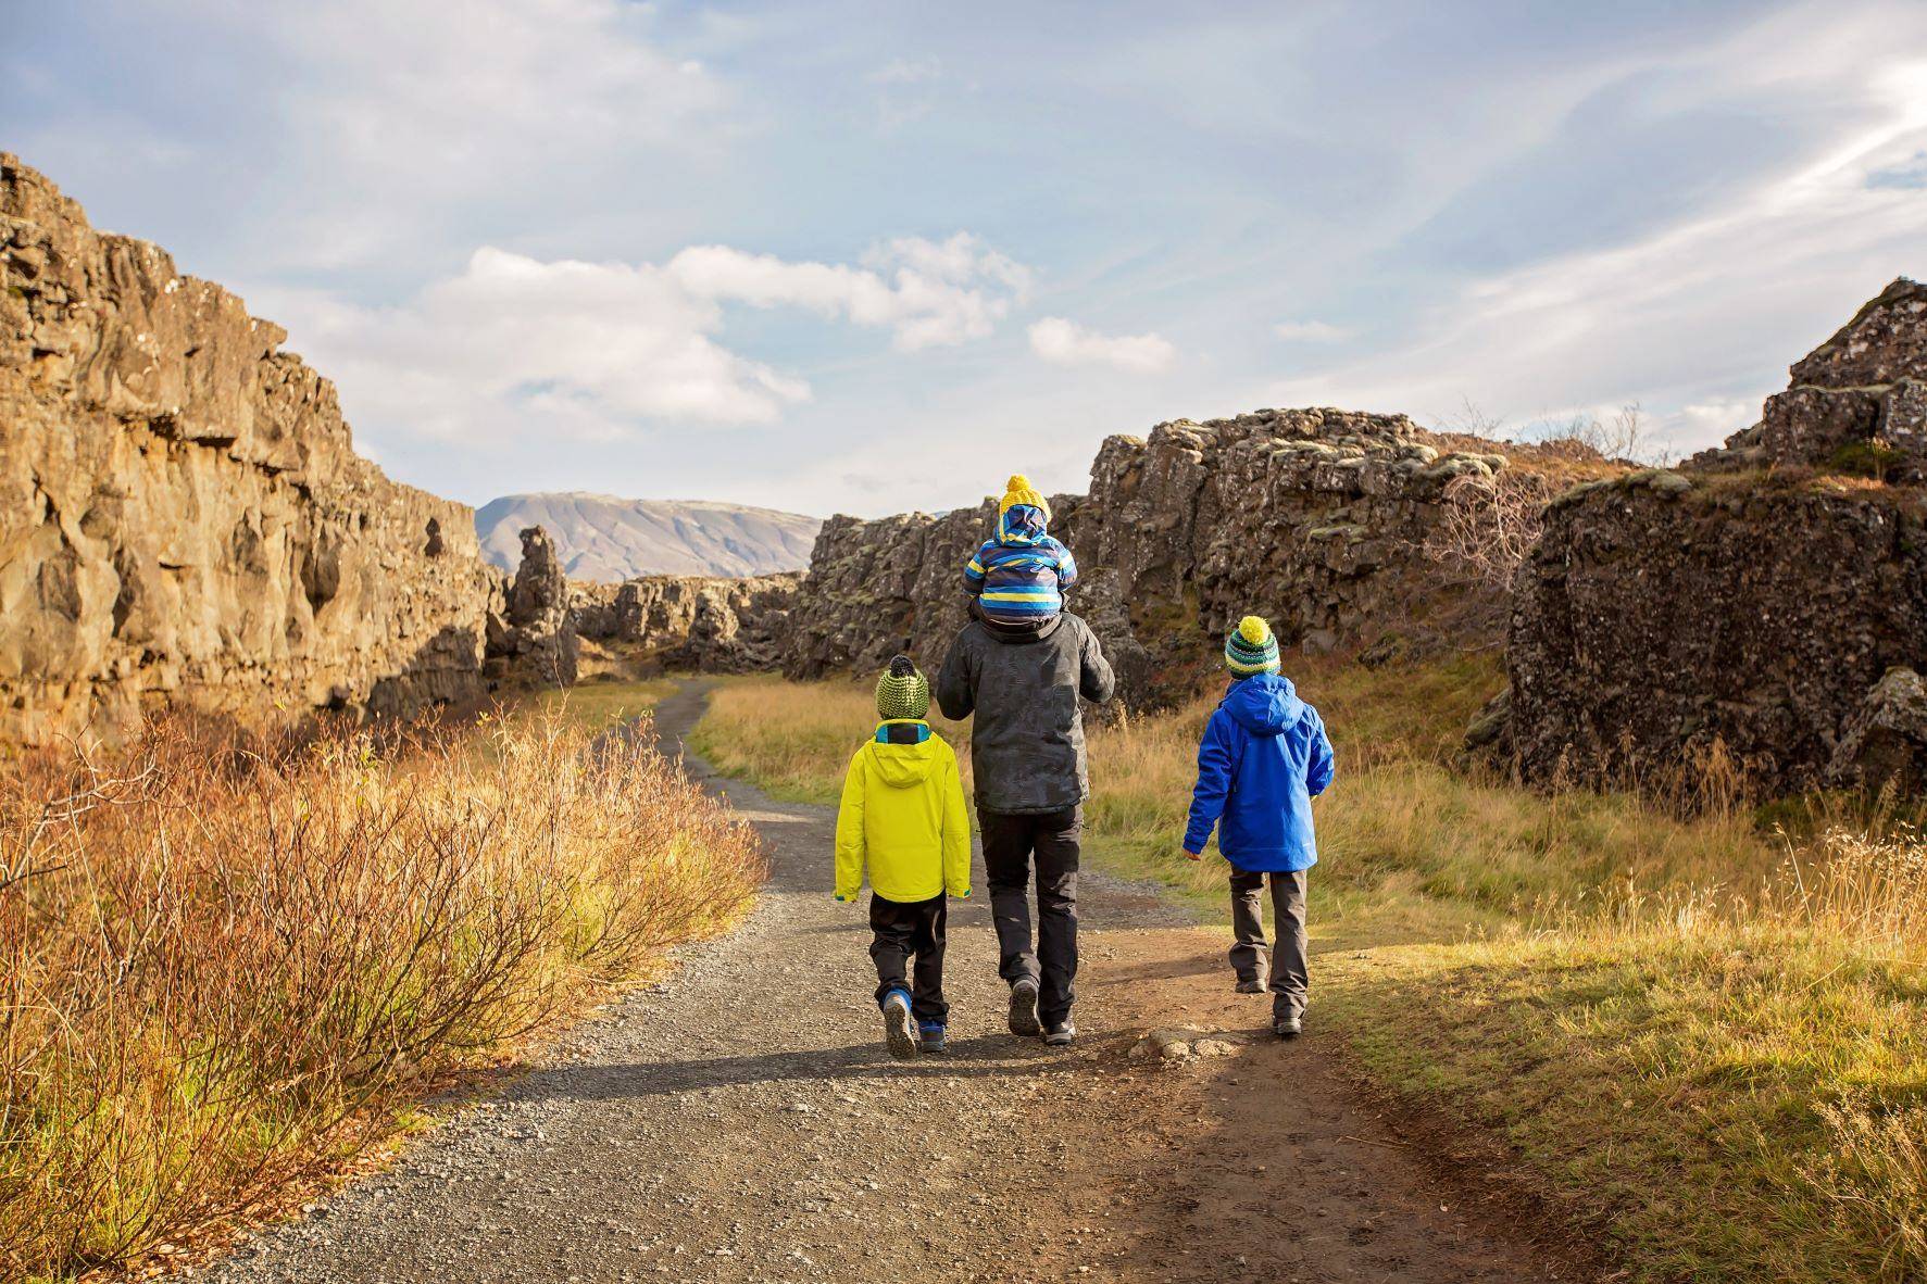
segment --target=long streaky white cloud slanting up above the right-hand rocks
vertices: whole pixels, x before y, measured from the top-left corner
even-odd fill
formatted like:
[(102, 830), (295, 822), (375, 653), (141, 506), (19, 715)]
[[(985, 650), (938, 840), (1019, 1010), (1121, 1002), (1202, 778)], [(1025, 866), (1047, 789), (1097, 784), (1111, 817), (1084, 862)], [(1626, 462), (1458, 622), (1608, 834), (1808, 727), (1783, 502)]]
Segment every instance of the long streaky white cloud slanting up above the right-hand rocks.
[(1869, 185), (1927, 146), (1927, 64), (1865, 77), (1863, 116), (1806, 158), (1651, 235), (1468, 283), (1411, 339), (1272, 385), (1272, 404), (1493, 414), (1642, 402), (1669, 445), (1757, 418), (1786, 366), (1894, 275), (1923, 270), (1914, 189)]

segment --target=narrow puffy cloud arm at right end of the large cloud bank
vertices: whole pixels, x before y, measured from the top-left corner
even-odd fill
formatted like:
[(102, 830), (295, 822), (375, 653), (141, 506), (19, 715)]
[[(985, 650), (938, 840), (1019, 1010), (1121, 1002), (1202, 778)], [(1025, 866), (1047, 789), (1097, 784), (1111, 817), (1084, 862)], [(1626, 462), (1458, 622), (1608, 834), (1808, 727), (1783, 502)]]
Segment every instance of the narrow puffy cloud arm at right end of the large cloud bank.
[(865, 268), (792, 264), (723, 244), (690, 246), (669, 273), (698, 298), (792, 304), (856, 325), (888, 325), (898, 350), (983, 339), (1021, 302), (1031, 273), (969, 233), (875, 246)]

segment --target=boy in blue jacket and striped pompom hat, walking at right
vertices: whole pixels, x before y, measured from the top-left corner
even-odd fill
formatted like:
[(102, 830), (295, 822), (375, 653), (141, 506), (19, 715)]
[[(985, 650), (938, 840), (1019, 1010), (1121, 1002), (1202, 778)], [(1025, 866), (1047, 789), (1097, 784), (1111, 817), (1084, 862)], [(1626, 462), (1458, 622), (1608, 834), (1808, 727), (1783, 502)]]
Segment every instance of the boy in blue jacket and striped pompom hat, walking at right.
[(1258, 889), (1272, 884), (1278, 951), (1272, 955), (1272, 1030), (1305, 1024), (1305, 872), (1318, 864), (1312, 799), (1332, 783), (1332, 741), (1318, 710), (1278, 672), (1278, 639), (1245, 616), (1224, 643), (1231, 685), (1204, 724), (1199, 783), (1191, 793), (1185, 857), (1204, 853), (1212, 826), (1231, 862), (1231, 966), (1239, 993), (1264, 993), (1264, 920)]

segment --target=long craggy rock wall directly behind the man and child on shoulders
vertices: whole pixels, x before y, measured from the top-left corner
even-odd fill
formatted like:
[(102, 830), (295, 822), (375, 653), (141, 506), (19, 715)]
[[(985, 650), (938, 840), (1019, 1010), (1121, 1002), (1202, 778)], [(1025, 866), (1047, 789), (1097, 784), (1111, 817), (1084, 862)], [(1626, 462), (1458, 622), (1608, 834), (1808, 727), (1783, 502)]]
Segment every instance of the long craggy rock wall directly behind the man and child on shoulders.
[[(1054, 497), (1083, 581), (1085, 616), (1133, 703), (1154, 703), (1214, 656), (1231, 620), (1258, 612), (1307, 649), (1386, 653), (1499, 628), (1503, 585), (1445, 574), (1428, 539), (1461, 477), (1574, 468), (1544, 450), (1439, 437), (1405, 416), (1260, 410), (1110, 437), (1091, 493)], [(832, 518), (817, 535), (784, 670), (875, 668), (906, 641), (925, 666), (964, 624), (964, 560), (994, 506), (942, 518)]]

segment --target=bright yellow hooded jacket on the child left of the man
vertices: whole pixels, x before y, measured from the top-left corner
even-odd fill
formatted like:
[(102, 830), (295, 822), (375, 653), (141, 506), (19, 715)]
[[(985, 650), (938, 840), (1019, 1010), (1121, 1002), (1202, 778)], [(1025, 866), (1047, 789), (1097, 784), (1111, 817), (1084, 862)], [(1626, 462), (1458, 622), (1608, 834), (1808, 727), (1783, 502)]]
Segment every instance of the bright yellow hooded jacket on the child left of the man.
[(838, 901), (856, 899), (865, 866), (884, 901), (969, 895), (964, 782), (956, 753), (938, 735), (915, 745), (871, 739), (850, 758), (836, 812)]

